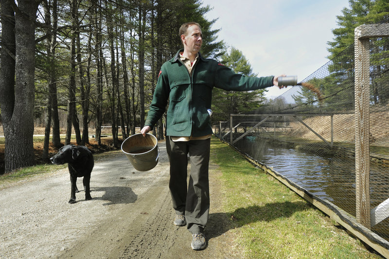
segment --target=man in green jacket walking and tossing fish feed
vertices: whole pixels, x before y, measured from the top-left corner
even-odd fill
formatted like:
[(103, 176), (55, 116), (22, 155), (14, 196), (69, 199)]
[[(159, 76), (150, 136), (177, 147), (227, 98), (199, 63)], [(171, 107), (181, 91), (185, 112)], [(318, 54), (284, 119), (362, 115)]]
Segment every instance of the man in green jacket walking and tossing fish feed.
[[(169, 99), (166, 147), (170, 161), (169, 188), (176, 211), (174, 224), (187, 225), (192, 233), (192, 249), (201, 250), (206, 247), (203, 230), (210, 208), (208, 165), (212, 127), (208, 109), (211, 108), (212, 88), (256, 90), (278, 86), (278, 77), (246, 77), (213, 59), (203, 58), (199, 53), (203, 39), (198, 23), (183, 24), (179, 34), (184, 49), (162, 65), (141, 133), (145, 136), (152, 130)], [(191, 162), (189, 186), (188, 154)]]

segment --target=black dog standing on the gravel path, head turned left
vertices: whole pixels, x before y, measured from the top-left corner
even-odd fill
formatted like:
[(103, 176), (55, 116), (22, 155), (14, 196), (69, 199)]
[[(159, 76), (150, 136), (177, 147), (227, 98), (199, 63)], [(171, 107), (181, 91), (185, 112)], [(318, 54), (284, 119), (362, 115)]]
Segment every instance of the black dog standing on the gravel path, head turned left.
[(85, 190), (85, 200), (90, 200), (90, 173), (92, 172), (94, 160), (90, 150), (85, 146), (66, 145), (58, 150), (58, 153), (50, 158), (55, 165), (63, 165), (68, 163), (71, 195), (69, 203), (76, 202), (76, 192), (78, 192), (76, 182), (77, 177), (84, 177), (83, 184)]

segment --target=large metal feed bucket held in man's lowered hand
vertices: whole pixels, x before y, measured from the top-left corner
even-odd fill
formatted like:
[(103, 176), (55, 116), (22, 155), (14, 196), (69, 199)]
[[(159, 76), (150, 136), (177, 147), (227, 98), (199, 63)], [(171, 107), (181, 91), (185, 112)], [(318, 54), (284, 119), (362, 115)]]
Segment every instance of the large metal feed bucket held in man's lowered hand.
[(138, 171), (149, 171), (158, 163), (158, 140), (152, 134), (143, 137), (141, 133), (126, 138), (122, 144), (122, 151)]

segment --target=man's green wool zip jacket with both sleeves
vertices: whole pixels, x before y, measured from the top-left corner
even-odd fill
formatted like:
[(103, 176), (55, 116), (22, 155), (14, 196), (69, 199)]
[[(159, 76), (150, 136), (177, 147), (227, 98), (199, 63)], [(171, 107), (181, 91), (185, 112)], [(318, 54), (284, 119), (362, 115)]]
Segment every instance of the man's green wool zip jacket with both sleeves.
[(199, 58), (192, 75), (179, 58), (179, 53), (165, 62), (159, 71), (145, 126), (151, 128), (169, 108), (166, 118), (166, 135), (200, 137), (212, 134), (210, 115), (212, 88), (249, 91), (273, 85), (274, 76), (248, 77), (237, 74), (213, 59)]

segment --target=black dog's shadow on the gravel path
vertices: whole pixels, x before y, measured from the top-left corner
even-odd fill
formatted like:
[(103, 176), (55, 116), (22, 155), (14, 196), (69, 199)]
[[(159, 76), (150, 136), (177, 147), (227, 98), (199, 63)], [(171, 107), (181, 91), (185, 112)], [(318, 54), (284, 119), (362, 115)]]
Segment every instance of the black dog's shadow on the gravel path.
[[(134, 203), (138, 199), (131, 188), (124, 186), (113, 186), (113, 187), (100, 187), (100, 188), (90, 188), (91, 196), (93, 200), (103, 200), (108, 201), (103, 204), (104, 206), (113, 205), (113, 204), (128, 204)], [(103, 191), (104, 194), (101, 197), (93, 196), (93, 192)]]

